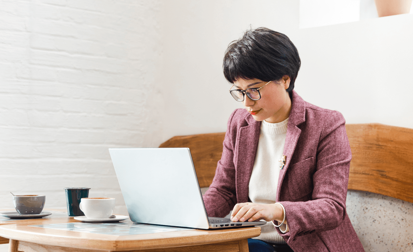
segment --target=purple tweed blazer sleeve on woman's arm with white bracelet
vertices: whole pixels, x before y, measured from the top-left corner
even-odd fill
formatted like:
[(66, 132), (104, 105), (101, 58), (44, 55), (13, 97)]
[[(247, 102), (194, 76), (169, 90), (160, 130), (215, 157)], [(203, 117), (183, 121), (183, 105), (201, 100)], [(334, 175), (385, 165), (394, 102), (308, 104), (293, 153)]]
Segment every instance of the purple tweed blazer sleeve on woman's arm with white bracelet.
[[(341, 113), (334, 112), (329, 113), (329, 118), (324, 118), (318, 136), (305, 140), (316, 143), (316, 156), (309, 158), (316, 160), (312, 181), (310, 179), (313, 184), (310, 200), (279, 202), (285, 207), (290, 228), (289, 232), (280, 235), (287, 239), (334, 229), (345, 219), (351, 150), (345, 120)], [(311, 166), (313, 162), (306, 160), (292, 166), (294, 169), (307, 169), (306, 166)]]

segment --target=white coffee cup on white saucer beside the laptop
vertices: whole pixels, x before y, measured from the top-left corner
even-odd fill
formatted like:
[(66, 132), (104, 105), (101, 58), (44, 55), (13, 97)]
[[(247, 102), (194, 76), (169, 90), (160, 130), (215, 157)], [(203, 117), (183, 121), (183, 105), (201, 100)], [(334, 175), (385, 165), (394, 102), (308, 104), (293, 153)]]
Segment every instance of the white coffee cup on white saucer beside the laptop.
[(115, 207), (114, 198), (81, 198), (80, 209), (88, 219), (108, 219)]

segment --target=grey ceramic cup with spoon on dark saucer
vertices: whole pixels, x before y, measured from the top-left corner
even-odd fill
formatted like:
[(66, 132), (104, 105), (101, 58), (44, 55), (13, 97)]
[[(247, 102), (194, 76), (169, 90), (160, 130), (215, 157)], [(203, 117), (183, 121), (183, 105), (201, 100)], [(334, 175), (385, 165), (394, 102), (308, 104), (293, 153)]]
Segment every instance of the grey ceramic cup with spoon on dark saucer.
[(40, 214), (45, 206), (45, 195), (15, 195), (13, 205), (19, 214)]

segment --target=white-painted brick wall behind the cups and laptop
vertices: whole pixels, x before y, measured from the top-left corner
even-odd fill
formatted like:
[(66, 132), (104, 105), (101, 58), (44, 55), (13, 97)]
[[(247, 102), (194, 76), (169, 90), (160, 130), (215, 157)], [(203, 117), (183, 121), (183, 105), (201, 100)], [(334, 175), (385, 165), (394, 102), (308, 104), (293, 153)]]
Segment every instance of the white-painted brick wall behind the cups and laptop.
[(9, 191), (115, 197), (110, 147), (156, 147), (159, 1), (0, 1), (0, 209)]

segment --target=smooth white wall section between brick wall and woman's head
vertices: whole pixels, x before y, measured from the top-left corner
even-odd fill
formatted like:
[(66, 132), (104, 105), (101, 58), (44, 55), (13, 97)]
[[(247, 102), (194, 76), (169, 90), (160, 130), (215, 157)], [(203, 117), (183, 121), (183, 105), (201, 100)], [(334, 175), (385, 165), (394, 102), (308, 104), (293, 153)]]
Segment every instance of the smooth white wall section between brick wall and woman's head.
[[(171, 11), (175, 10), (175, 11)], [(286, 34), (298, 29), (298, 1), (174, 1), (164, 5), (165, 125), (174, 135), (224, 132), (242, 104), (228, 90), (222, 59), (228, 44), (247, 28), (268, 26)]]

